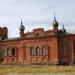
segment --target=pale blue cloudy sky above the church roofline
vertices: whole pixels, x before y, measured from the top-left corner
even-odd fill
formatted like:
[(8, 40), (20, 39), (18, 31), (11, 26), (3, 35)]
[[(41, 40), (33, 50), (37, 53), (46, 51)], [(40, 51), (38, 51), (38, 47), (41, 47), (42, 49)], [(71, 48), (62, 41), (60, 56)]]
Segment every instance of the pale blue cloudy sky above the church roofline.
[(21, 18), (25, 32), (35, 28), (52, 29), (54, 12), (59, 29), (75, 33), (75, 0), (0, 0), (0, 27), (8, 27), (8, 36), (19, 37)]

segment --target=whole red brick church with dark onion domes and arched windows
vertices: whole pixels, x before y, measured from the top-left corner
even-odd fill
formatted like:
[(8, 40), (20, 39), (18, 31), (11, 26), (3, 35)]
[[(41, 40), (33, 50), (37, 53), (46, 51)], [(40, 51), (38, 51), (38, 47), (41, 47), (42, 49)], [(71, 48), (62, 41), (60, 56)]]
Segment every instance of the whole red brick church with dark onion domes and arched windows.
[(74, 64), (75, 34), (58, 29), (59, 23), (54, 16), (53, 29), (43, 28), (24, 32), (21, 21), (20, 37), (8, 38), (7, 27), (0, 27), (0, 49), (4, 50), (2, 63), (5, 64)]

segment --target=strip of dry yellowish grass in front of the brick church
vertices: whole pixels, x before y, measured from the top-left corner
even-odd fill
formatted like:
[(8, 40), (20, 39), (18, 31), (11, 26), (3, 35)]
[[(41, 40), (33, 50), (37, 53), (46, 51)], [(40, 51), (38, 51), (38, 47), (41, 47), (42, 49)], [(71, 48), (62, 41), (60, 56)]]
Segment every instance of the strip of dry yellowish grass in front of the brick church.
[(7, 75), (8, 73), (48, 73), (54, 75), (75, 75), (75, 66), (0, 65), (0, 75)]

